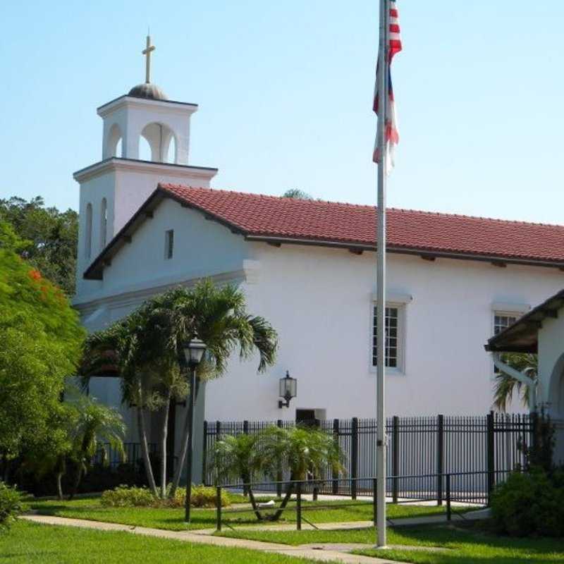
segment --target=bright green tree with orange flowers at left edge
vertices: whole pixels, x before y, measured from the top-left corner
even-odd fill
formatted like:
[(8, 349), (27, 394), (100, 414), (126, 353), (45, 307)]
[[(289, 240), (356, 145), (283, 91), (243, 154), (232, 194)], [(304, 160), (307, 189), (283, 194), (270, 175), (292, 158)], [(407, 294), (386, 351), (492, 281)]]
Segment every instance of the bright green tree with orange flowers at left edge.
[(65, 440), (56, 424), (60, 398), (85, 338), (63, 292), (16, 254), (19, 243), (0, 222), (0, 465), (6, 473), (24, 447)]

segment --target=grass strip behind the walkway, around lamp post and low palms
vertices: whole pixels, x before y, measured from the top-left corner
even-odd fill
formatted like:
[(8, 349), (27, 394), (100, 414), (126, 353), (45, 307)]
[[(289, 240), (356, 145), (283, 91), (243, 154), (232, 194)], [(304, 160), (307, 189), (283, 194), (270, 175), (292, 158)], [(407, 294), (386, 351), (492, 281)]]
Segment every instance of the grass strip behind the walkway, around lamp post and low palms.
[[(302, 515), (310, 522), (348, 522), (368, 521), (372, 519), (372, 503), (359, 502), (353, 507), (343, 507), (350, 501), (331, 502), (304, 502), (302, 503)], [(135, 525), (137, 527), (153, 527), (156, 529), (168, 529), (173, 531), (184, 531), (186, 529), (208, 529), (216, 526), (216, 510), (193, 509), (192, 522), (186, 525), (184, 522), (183, 509), (171, 508), (109, 508), (104, 507), (99, 498), (82, 498), (73, 501), (31, 501), (28, 505), (42, 515), (57, 515), (59, 517), (75, 517), (91, 521), (106, 521), (121, 523), (122, 525)], [(312, 509), (317, 505), (329, 505), (329, 508)], [(295, 503), (289, 504), (290, 508)], [(223, 510), (223, 522), (230, 525), (264, 525), (258, 522), (251, 510), (241, 511), (237, 505), (233, 505), (237, 513), (230, 513), (229, 509)], [(437, 515), (443, 513), (444, 508), (436, 506), (417, 505), (388, 505), (388, 516), (415, 517), (422, 515)], [(284, 513), (282, 523), (295, 522), (295, 511), (289, 510)]]

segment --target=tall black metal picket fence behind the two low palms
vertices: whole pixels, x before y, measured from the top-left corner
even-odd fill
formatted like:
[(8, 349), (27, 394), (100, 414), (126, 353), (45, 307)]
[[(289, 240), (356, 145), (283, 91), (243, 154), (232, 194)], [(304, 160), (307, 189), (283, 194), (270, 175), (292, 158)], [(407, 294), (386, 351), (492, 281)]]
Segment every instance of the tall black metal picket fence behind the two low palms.
[[(357, 495), (372, 493), (376, 476), (376, 420), (329, 419), (310, 422), (333, 434), (345, 457), (345, 474), (334, 475), (329, 468), (316, 477), (324, 482), (320, 494)], [(203, 475), (214, 484), (208, 455), (222, 435), (255, 434), (268, 427), (293, 427), (292, 421), (204, 422)], [(390, 417), (386, 422), (388, 496), (441, 500), (446, 474), (459, 474), (450, 484), (451, 498), (467, 503), (486, 503), (496, 482), (505, 479), (525, 462), (520, 445), (530, 444), (534, 418), (529, 415), (436, 417)], [(401, 479), (399, 478), (401, 477)], [(347, 479), (348, 478), (348, 479)], [(278, 481), (289, 476), (278, 476)], [(264, 480), (264, 477), (253, 477)], [(270, 489), (280, 486), (274, 483)], [(269, 489), (267, 486), (266, 489)]]

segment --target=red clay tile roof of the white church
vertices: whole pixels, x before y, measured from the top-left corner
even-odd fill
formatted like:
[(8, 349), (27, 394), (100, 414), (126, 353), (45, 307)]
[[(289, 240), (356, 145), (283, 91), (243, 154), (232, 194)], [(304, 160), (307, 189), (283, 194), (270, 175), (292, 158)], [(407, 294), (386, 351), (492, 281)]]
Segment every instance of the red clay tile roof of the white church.
[[(159, 186), (245, 235), (376, 245), (372, 206)], [(564, 263), (564, 226), (394, 208), (388, 209), (387, 221), (393, 249)]]

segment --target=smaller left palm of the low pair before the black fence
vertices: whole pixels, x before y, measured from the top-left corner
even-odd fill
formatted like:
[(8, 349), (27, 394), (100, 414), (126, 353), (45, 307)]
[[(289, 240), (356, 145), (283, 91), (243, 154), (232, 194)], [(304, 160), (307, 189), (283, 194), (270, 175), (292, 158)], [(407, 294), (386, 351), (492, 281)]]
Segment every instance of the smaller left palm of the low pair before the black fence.
[[(252, 482), (264, 466), (258, 440), (258, 435), (226, 435), (214, 443), (209, 467), (216, 472), (216, 483), (235, 479), (241, 479), (243, 484)], [(262, 520), (251, 486), (248, 492), (252, 509), (257, 519)]]

